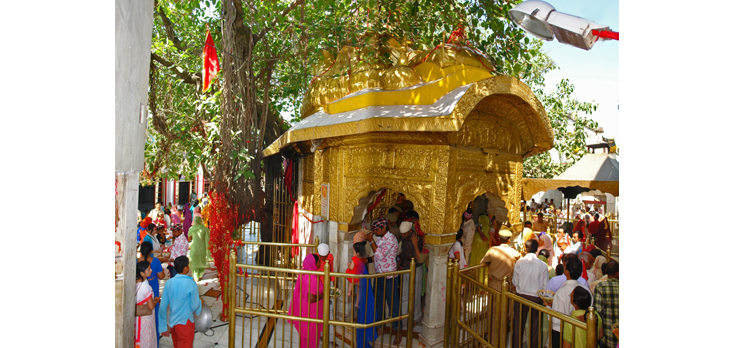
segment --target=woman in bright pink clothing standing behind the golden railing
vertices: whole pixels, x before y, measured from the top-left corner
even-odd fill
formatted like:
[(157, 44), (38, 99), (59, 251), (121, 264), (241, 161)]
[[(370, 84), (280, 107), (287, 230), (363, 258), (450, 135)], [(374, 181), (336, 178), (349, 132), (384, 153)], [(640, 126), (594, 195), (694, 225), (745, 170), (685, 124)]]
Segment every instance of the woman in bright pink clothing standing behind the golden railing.
[[(306, 271), (317, 271), (317, 255), (310, 254), (304, 259), (303, 268)], [(323, 318), (323, 297), (325, 287), (319, 277), (310, 274), (300, 274), (296, 279), (294, 294), (288, 315), (300, 318)], [(317, 348), (322, 333), (322, 324), (308, 323), (299, 320), (289, 320), (299, 332), (299, 346), (301, 348)]]

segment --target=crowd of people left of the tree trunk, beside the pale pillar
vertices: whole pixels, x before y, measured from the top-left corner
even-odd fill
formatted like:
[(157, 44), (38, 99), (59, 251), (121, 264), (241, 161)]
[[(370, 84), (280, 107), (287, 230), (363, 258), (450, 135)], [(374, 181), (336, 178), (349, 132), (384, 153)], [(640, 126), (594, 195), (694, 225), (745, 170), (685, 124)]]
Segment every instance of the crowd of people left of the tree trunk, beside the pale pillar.
[[(210, 231), (202, 216), (208, 204), (206, 196), (200, 203), (192, 195), (180, 212), (177, 206), (169, 203), (163, 208), (159, 202), (145, 216), (139, 212), (134, 332), (138, 348), (159, 347), (160, 336), (171, 337), (174, 347), (193, 346), (192, 313), (202, 310), (197, 282), (209, 265)], [(167, 281), (161, 294), (163, 279)]]

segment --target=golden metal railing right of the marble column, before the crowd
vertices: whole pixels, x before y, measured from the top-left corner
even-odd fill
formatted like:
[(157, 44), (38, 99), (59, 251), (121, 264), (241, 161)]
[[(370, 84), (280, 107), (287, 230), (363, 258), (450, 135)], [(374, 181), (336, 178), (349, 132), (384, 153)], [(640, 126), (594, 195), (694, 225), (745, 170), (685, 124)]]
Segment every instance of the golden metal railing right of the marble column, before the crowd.
[[(512, 348), (522, 347), (524, 337), (527, 337), (528, 344), (533, 339), (537, 339), (537, 346), (543, 347), (546, 346), (547, 340), (549, 346), (553, 347), (551, 335), (553, 318), (561, 320), (561, 333), (564, 332), (565, 324), (573, 325), (575, 329), (572, 330), (572, 342), (574, 342), (576, 329), (581, 329), (587, 333), (587, 347), (598, 347), (597, 317), (593, 307), (587, 311), (586, 322), (576, 320), (569, 315), (556, 312), (510, 292), (508, 277), (504, 278), (500, 291), (477, 281), (475, 275), (484, 268), (487, 268), (487, 265), (460, 271), (458, 261), (449, 259), (446, 279), (446, 294), (449, 300), (446, 304), (444, 348), (507, 347), (509, 335), (516, 334), (510, 332), (513, 331), (513, 320), (510, 316), (513, 314), (515, 303), (520, 308), (519, 317), (522, 318), (522, 322), (525, 321), (524, 312), (533, 313), (534, 310), (538, 312), (537, 320), (541, 326), (537, 337), (532, 337), (531, 332), (528, 331), (526, 336), (518, 340), (519, 346), (512, 344)], [(543, 333), (545, 327), (542, 326), (544, 322), (548, 325), (545, 334)]]

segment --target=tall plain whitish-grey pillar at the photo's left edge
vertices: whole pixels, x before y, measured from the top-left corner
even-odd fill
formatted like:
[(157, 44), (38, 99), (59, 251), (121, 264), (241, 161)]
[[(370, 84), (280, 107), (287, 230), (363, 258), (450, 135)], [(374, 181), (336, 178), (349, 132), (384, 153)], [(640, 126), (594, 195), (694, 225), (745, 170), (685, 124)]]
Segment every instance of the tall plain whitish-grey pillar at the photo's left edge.
[[(144, 168), (154, 1), (115, 1), (115, 347), (134, 346), (134, 282), (139, 173)], [(144, 122), (140, 122), (140, 115)], [(119, 265), (120, 262), (120, 265)]]

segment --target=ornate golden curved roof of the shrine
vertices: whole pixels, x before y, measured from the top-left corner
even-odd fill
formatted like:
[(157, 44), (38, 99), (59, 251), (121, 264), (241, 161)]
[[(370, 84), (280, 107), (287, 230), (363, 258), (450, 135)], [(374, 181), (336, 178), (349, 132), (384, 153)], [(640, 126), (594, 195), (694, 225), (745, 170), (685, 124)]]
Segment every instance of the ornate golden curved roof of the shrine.
[[(468, 48), (447, 44), (413, 54), (403, 60), (406, 65), (339, 76), (343, 69), (334, 67), (345, 64), (342, 55), (351, 52), (344, 48), (329, 70), (316, 78), (302, 106), (303, 120), (268, 146), (265, 157), (293, 143), (330, 137), (458, 132), (473, 110), (512, 118), (525, 157), (553, 145), (548, 117), (529, 87), (512, 77), (493, 76), (490, 62)], [(396, 64), (404, 63), (398, 59)]]

